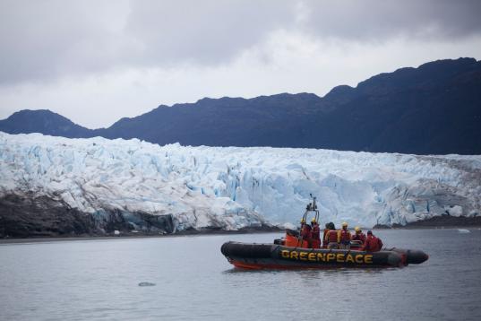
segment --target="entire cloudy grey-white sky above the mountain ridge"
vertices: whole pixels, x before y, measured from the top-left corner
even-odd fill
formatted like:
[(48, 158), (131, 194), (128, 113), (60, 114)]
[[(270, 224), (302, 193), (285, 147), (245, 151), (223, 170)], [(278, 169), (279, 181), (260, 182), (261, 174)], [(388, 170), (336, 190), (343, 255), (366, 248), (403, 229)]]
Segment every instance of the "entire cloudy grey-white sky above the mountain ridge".
[(403, 66), (481, 59), (481, 1), (0, 0), (0, 118), (90, 128), (159, 104), (323, 96)]

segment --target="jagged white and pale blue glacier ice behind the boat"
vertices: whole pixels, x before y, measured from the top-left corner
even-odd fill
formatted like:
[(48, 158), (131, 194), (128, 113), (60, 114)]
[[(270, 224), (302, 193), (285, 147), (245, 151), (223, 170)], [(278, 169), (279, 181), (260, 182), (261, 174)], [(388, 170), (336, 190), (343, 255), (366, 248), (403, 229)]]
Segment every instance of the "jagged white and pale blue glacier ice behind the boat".
[(0, 194), (62, 199), (85, 213), (173, 214), (177, 230), (322, 222), (406, 224), (480, 213), (481, 156), (269, 147), (159, 146), (137, 139), (0, 133)]

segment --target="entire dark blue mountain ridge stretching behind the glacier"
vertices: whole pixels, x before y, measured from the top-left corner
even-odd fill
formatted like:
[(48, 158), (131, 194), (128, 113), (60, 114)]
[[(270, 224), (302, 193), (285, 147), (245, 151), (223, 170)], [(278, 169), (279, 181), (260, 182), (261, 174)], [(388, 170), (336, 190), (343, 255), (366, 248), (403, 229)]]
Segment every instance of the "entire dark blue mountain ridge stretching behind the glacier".
[(36, 130), (69, 138), (138, 138), (159, 144), (479, 154), (481, 62), (459, 58), (403, 67), (374, 75), (356, 87), (336, 86), (323, 97), (284, 92), (159, 105), (99, 129), (53, 115), (48, 122), (46, 115), (37, 117), (31, 111), (23, 116), (22, 122), (13, 121), (13, 116), (0, 120), (0, 130), (9, 134)]

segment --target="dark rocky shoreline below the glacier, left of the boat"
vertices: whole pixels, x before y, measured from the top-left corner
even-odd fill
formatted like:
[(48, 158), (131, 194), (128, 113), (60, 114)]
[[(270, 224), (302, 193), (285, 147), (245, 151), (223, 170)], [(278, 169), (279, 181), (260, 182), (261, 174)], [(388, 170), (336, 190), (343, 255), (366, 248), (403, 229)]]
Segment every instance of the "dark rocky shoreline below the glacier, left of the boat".
[(125, 213), (119, 210), (82, 213), (62, 200), (47, 196), (4, 195), (0, 198), (0, 239), (193, 235), (280, 230), (265, 222), (232, 231), (215, 223), (208, 228), (178, 229), (176, 218), (171, 214)]

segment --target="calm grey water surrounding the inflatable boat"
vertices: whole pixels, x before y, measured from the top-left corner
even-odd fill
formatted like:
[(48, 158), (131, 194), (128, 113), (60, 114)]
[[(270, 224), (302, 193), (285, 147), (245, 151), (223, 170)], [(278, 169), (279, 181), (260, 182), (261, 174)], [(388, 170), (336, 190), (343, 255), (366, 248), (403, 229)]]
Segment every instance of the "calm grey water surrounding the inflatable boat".
[(430, 259), (401, 269), (249, 272), (219, 251), (229, 239), (279, 234), (2, 245), (0, 320), (481, 320), (481, 230), (377, 235)]

